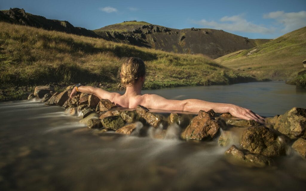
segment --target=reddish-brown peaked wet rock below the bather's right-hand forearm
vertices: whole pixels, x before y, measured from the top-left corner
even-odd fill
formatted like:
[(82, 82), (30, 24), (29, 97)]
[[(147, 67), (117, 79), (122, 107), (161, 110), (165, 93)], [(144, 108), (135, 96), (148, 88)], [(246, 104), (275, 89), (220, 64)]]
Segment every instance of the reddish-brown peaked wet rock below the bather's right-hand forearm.
[(203, 110), (199, 111), (199, 115), (194, 117), (189, 126), (181, 134), (181, 138), (188, 139), (211, 139), (217, 134), (220, 124), (212, 120), (213, 117)]

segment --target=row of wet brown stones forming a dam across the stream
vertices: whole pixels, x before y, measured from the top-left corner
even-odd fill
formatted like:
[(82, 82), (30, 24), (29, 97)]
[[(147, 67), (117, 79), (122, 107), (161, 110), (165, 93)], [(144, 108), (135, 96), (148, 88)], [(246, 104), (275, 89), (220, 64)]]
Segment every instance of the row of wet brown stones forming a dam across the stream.
[[(234, 119), (230, 114), (216, 114), (213, 110), (182, 115), (156, 114), (141, 105), (134, 110), (119, 108), (110, 100), (100, 100), (94, 95), (80, 93), (69, 98), (71, 92), (71, 86), (63, 92), (37, 86), (28, 99), (39, 98), (46, 105), (64, 107), (67, 113), (81, 116), (80, 123), (98, 131), (95, 133), (98, 135), (113, 131), (159, 139), (215, 140), (220, 146), (230, 147), (225, 156), (232, 164), (271, 166), (276, 157), (290, 153), (306, 159), (306, 109), (303, 108), (294, 107), (283, 115), (267, 117), (266, 124), (259, 124)], [(241, 133), (237, 136), (236, 132)]]

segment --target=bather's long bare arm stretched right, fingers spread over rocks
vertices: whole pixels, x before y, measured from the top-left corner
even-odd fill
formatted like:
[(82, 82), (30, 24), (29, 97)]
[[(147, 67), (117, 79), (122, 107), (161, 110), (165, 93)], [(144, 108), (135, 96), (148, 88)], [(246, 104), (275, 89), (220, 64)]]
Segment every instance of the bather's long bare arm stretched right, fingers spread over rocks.
[(230, 113), (232, 116), (242, 119), (253, 119), (259, 122), (263, 122), (264, 120), (263, 117), (260, 117), (251, 110), (236, 106), (234, 104), (207, 102), (200, 99), (172, 100), (151, 94), (147, 95), (147, 98), (144, 99), (143, 106), (151, 109), (189, 112), (198, 112), (199, 110), (208, 111), (212, 109), (216, 113)]

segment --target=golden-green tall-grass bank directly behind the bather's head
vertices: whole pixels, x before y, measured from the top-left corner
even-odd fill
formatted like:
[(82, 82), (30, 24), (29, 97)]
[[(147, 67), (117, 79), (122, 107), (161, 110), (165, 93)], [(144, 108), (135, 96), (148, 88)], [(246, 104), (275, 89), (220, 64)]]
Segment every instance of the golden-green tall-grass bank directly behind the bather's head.
[(147, 65), (144, 88), (255, 80), (200, 54), (175, 54), (0, 22), (0, 100), (24, 99), (36, 85), (62, 88), (81, 82), (119, 89), (119, 68), (123, 57), (130, 56)]

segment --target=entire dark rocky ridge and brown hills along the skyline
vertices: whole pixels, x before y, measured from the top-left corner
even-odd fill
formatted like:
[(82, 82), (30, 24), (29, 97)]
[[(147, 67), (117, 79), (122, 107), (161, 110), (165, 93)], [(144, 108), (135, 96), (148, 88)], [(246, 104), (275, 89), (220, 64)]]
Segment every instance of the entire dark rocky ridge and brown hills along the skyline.
[(43, 16), (32, 15), (19, 8), (0, 11), (0, 21), (103, 38), (168, 52), (200, 53), (213, 59), (270, 41), (270, 39), (248, 39), (222, 30), (173, 29), (136, 20), (124, 21), (91, 31), (82, 27), (74, 27), (68, 21), (51, 20)]

